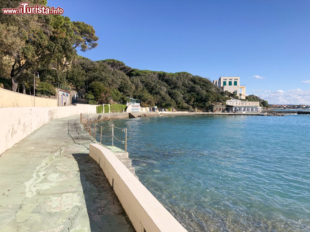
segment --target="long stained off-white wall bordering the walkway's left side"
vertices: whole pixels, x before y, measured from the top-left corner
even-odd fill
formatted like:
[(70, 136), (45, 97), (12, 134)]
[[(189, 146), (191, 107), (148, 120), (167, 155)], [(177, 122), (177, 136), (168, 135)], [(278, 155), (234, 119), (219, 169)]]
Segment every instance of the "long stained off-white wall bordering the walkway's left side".
[(95, 112), (95, 110), (96, 105), (87, 104), (63, 107), (0, 108), (0, 154), (53, 119), (84, 112)]

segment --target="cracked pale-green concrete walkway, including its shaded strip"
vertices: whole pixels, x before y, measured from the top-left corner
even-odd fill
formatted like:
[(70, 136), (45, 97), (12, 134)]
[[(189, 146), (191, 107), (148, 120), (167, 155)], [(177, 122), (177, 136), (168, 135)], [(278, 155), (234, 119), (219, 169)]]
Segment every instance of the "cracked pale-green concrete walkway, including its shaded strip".
[(0, 231), (134, 231), (79, 115), (48, 122), (0, 156)]

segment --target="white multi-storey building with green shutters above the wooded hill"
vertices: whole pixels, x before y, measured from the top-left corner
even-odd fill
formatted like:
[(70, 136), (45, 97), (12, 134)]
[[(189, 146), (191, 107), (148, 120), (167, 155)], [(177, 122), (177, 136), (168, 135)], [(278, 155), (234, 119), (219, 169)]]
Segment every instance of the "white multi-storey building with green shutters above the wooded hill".
[(213, 84), (216, 84), (223, 91), (235, 92), (239, 98), (246, 99), (246, 86), (240, 85), (239, 76), (221, 76), (218, 80), (214, 80)]

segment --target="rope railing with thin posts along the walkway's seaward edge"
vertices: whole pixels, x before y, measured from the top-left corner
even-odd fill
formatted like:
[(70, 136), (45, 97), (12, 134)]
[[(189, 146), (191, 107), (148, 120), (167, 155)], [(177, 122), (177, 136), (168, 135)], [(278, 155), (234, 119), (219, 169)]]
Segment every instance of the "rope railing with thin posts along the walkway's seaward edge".
[[(94, 120), (97, 120), (98, 119), (98, 116), (101, 115), (101, 114), (92, 114), (92, 112), (90, 113), (81, 113), (81, 124), (83, 126), (83, 128), (89, 132), (89, 135), (93, 136), (94, 135), (94, 140), (96, 140), (96, 135), (98, 135), (98, 137), (100, 136), (100, 141), (97, 141), (97, 142), (100, 142), (100, 145), (102, 145), (102, 137), (111, 137), (112, 138), (112, 146), (114, 146), (114, 139), (121, 142), (122, 144), (125, 144), (125, 152), (127, 152), (127, 127), (126, 128), (118, 128), (116, 126), (114, 126), (112, 124), (112, 134), (111, 135), (103, 135), (102, 134), (102, 126), (100, 126), (99, 124), (96, 124), (94, 122)], [(94, 125), (94, 128), (91, 128), (91, 126)], [(100, 134), (96, 132), (96, 127), (97, 127), (97, 130), (100, 128)], [(115, 137), (114, 135), (114, 128), (115, 129), (119, 129), (119, 130), (122, 130), (124, 133), (125, 133), (125, 140), (122, 141), (122, 140), (119, 140)]]

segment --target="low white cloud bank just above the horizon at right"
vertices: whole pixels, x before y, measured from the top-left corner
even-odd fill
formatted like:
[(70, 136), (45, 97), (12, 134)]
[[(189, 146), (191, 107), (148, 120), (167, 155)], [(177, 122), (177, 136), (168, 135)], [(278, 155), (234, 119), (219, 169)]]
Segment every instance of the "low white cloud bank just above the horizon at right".
[(259, 97), (267, 100), (269, 104), (303, 104), (310, 105), (310, 90), (291, 89), (288, 91), (277, 90), (265, 92)]

